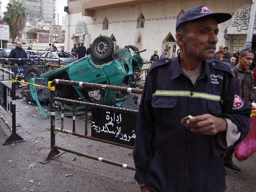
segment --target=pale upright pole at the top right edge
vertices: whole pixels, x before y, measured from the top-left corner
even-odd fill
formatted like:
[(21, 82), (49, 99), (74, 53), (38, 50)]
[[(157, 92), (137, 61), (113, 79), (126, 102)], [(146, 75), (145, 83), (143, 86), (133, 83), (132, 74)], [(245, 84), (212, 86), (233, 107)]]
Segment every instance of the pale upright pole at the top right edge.
[(252, 8), (250, 9), (250, 21), (249, 21), (247, 40), (245, 45), (245, 49), (249, 49), (249, 50), (252, 49), (255, 14), (256, 14), (256, 0), (253, 0)]

